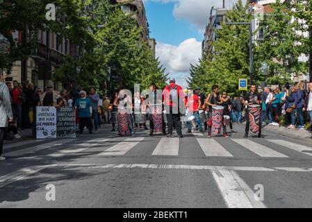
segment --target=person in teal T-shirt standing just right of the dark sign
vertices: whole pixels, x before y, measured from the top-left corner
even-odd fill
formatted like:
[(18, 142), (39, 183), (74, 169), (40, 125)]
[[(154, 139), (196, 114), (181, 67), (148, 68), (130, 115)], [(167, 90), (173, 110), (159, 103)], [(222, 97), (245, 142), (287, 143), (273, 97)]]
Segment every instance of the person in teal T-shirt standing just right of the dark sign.
[(89, 133), (92, 134), (92, 105), (90, 100), (87, 98), (85, 91), (79, 92), (80, 98), (76, 100), (75, 107), (78, 109), (79, 114), (79, 129), (80, 134), (83, 134), (83, 128), (87, 126)]

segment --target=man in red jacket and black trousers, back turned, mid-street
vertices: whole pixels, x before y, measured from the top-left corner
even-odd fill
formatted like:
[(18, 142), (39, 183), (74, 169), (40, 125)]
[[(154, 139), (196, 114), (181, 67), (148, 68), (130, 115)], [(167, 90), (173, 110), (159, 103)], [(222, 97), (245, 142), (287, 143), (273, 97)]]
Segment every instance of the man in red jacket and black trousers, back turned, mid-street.
[(176, 133), (182, 138), (181, 114), (183, 114), (185, 110), (185, 96), (182, 87), (176, 85), (176, 80), (174, 78), (170, 78), (169, 82), (170, 84), (163, 89), (163, 102), (165, 104), (168, 122), (167, 137), (172, 137), (172, 128), (175, 126)]

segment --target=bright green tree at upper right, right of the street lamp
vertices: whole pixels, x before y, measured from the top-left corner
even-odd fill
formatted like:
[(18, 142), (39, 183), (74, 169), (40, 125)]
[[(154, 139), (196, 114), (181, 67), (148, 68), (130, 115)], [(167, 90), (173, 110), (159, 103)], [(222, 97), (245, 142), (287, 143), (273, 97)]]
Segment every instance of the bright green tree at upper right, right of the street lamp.
[(272, 12), (264, 15), (259, 27), (264, 30), (264, 40), (256, 46), (255, 71), (261, 76), (261, 62), (267, 62), (270, 69), (266, 83), (284, 85), (290, 81), (290, 74), (305, 74), (307, 66), (298, 60), (302, 45), (296, 42), (300, 42), (301, 36), (294, 30), (298, 31), (300, 26), (297, 19), (293, 21), (290, 4), (277, 0), (271, 7)]

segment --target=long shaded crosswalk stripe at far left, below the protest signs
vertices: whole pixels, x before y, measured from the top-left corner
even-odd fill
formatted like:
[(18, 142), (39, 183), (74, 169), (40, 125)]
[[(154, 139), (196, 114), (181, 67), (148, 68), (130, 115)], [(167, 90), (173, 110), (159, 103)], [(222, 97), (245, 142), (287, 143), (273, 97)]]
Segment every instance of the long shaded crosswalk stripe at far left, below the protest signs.
[(46, 148), (51, 148), (54, 146), (62, 146), (63, 144), (73, 142), (74, 140), (76, 140), (76, 139), (58, 139), (58, 140), (54, 140), (53, 142), (49, 142), (47, 144), (40, 144), (40, 145), (32, 146), (29, 148), (23, 148), (23, 149), (18, 150), (18, 151), (12, 151), (9, 153), (5, 153), (5, 155), (6, 156), (18, 156), (18, 155), (35, 153), (37, 151), (41, 151), (41, 150), (44, 150)]

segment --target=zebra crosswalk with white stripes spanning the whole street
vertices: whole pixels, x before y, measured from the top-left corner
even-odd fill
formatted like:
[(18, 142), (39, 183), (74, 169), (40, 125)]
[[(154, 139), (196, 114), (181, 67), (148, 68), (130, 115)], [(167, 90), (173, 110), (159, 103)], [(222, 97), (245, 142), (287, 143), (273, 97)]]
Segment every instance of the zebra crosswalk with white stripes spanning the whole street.
[[(278, 146), (277, 146), (278, 145)], [(145, 157), (229, 157), (246, 159), (309, 158), (312, 147), (288, 142), (283, 139), (224, 139), (205, 137), (110, 137), (81, 141), (79, 139), (59, 139), (45, 144), (19, 150), (5, 149), (5, 156), (23, 157), (42, 155), (64, 157), (87, 151), (95, 157), (145, 156)], [(294, 153), (295, 151), (295, 153)], [(39, 153), (39, 154), (38, 154)], [(89, 156), (90, 156), (89, 155)], [(186, 156), (188, 155), (188, 156)], [(295, 156), (295, 157), (294, 157)]]

